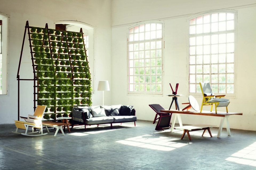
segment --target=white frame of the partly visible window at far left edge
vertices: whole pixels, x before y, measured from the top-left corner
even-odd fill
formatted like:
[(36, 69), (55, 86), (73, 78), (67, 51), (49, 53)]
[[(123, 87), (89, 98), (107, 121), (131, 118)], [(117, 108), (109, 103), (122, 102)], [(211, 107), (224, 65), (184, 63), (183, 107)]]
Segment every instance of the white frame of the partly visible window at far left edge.
[(4, 15), (0, 12), (0, 20), (2, 20), (2, 93), (0, 93), (0, 95), (8, 95), (9, 16)]

